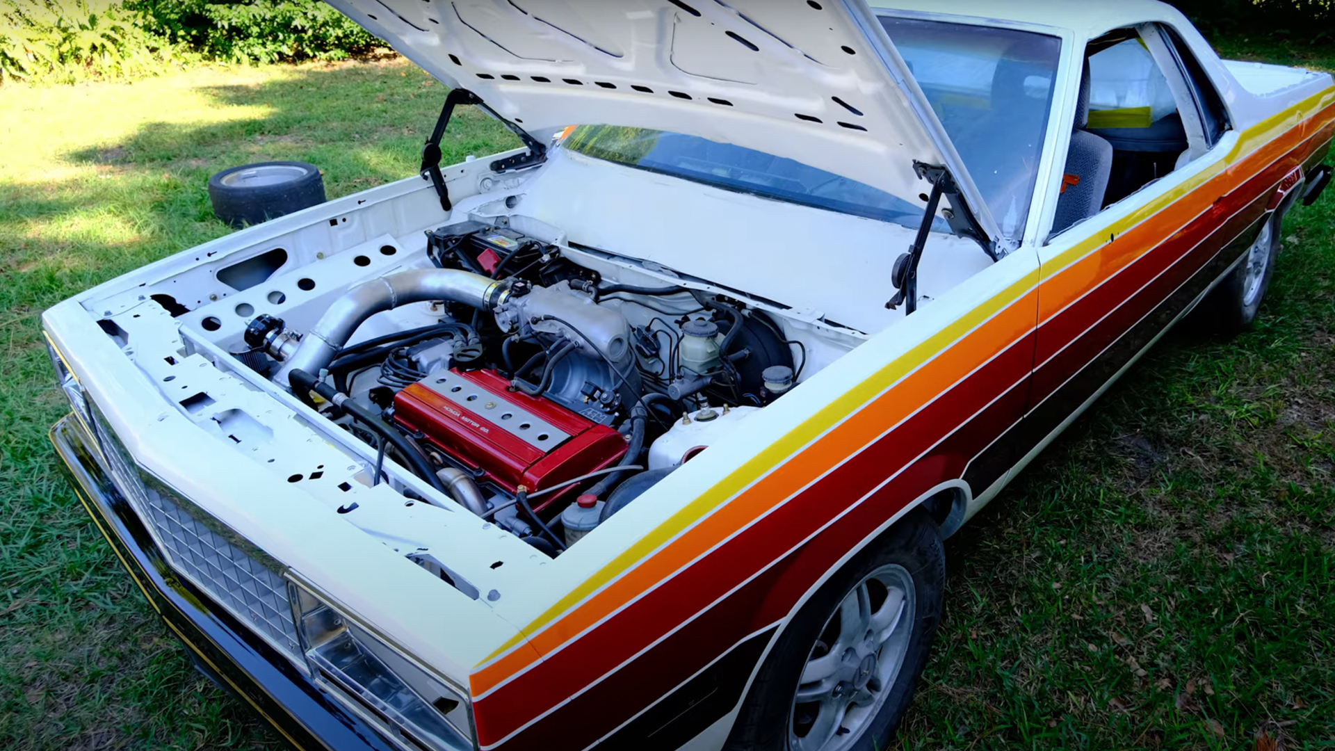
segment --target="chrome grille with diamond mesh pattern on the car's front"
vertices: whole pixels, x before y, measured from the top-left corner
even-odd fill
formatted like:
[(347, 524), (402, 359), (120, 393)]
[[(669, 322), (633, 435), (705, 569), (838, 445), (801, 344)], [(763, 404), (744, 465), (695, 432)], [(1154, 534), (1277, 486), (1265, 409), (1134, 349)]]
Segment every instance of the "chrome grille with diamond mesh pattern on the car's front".
[(142, 472), (107, 429), (101, 413), (93, 408), (92, 414), (97, 444), (116, 488), (139, 512), (172, 569), (304, 665), (279, 564)]

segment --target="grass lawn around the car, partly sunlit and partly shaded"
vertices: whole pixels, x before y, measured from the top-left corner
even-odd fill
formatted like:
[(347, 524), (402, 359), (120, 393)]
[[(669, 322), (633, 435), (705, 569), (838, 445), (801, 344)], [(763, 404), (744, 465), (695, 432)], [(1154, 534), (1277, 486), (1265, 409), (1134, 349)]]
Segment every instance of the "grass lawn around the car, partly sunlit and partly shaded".
[[(307, 160), (331, 198), (414, 174), (443, 95), (396, 61), (0, 90), (0, 746), (280, 747), (60, 477), (37, 318), (224, 234), (214, 171)], [(466, 111), (446, 159), (506, 138)], [(948, 543), (900, 748), (1335, 747), (1335, 195), (1284, 238), (1252, 331), (1168, 337)]]

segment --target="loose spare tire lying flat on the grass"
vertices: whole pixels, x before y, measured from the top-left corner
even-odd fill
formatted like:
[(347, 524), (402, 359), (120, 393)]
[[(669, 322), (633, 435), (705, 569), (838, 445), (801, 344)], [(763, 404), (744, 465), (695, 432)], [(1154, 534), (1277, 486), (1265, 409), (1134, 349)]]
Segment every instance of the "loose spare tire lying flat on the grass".
[(324, 203), (324, 180), (306, 162), (260, 162), (208, 178), (208, 198), (219, 219), (240, 229)]

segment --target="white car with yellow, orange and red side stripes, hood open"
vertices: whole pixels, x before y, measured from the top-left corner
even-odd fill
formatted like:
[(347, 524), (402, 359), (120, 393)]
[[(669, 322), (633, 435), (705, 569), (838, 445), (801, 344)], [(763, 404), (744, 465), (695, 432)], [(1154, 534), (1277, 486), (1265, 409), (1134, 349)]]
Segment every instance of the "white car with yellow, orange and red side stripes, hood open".
[[(330, 1), (453, 88), (422, 175), (43, 318), (89, 513), (302, 748), (886, 747), (941, 540), (1330, 182), (1328, 75), (1144, 0)], [(441, 166), (459, 104), (526, 148)]]

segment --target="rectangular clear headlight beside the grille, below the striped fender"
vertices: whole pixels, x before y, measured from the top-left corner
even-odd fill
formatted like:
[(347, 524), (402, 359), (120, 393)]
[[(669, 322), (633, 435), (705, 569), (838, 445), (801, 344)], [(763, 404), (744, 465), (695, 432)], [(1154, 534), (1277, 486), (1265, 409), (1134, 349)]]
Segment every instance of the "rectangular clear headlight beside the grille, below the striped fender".
[(292, 584), (291, 592), (302, 649), (324, 690), (409, 747), (473, 748), (469, 704), (457, 691), (304, 587)]

